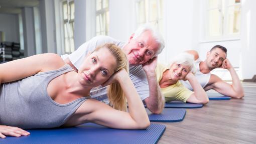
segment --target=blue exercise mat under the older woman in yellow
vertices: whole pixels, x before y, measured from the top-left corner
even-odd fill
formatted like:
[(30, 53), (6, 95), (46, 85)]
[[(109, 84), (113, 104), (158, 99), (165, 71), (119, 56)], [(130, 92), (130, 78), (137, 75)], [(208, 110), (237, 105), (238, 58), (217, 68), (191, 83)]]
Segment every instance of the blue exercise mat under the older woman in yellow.
[(203, 104), (188, 103), (181, 101), (170, 101), (165, 103), (165, 108), (200, 108)]

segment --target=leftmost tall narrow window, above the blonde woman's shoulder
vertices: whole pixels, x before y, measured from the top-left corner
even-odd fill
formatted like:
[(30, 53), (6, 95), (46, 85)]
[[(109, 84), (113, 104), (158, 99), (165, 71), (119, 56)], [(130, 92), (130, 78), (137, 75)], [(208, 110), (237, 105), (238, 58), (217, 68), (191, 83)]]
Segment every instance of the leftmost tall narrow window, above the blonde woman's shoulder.
[(74, 1), (63, 2), (63, 20), (64, 20), (64, 41), (65, 53), (70, 54), (75, 51), (74, 46), (74, 19), (75, 4)]

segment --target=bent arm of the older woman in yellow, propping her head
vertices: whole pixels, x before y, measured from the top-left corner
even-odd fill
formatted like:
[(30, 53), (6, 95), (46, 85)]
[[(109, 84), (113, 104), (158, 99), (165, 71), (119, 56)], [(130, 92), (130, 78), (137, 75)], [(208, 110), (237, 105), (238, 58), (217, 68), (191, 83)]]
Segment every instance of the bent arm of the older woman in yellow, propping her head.
[(192, 88), (194, 89), (194, 93), (189, 96), (187, 102), (201, 104), (208, 103), (209, 98), (200, 83), (196, 80), (196, 77), (190, 72), (187, 74), (186, 79), (189, 81)]

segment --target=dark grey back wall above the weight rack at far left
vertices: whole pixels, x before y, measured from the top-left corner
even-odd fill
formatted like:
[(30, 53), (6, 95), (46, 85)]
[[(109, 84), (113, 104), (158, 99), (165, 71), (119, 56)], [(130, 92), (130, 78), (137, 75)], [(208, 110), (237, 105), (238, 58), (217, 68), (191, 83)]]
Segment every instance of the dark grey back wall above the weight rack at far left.
[(19, 17), (14, 14), (0, 14), (0, 31), (5, 33), (5, 41), (20, 42)]

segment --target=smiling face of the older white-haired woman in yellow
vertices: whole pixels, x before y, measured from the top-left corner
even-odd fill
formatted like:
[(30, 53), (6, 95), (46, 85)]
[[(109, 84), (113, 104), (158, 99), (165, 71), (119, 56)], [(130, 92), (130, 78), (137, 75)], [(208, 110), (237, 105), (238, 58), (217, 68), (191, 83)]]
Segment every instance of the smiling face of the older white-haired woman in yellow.
[(189, 67), (178, 64), (178, 63), (173, 63), (170, 67), (169, 75), (171, 76), (172, 80), (182, 80), (186, 77), (186, 75), (189, 73)]

